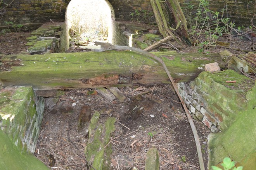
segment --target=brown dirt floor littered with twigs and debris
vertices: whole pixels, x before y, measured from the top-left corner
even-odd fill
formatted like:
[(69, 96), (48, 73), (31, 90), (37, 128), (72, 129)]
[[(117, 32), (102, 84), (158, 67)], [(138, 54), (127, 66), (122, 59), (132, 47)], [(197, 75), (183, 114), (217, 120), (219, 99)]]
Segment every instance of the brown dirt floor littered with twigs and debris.
[[(0, 54), (25, 53), (26, 37), (29, 37), (29, 32), (1, 35)], [(238, 49), (251, 51), (250, 42), (232, 44), (234, 46), (230, 51), (234, 54), (243, 53)], [(219, 52), (223, 49), (217, 46), (209, 51)], [(182, 51), (197, 52), (189, 47)], [(45, 113), (35, 156), (50, 169), (87, 169), (83, 150), (88, 138), (89, 122), (78, 131), (78, 118), (84, 105), (90, 106), (92, 113), (101, 111), (100, 121), (107, 117), (116, 118), (116, 131), (112, 134), (110, 145), (113, 150), (111, 158), (118, 160), (120, 170), (133, 167), (143, 170), (145, 155), (150, 148), (159, 151), (161, 170), (199, 169), (194, 136), (171, 85), (119, 88), (128, 97), (126, 102), (111, 102), (97, 93), (88, 95), (87, 92), (93, 90), (66, 90), (65, 94), (59, 96), (61, 100), (59, 97), (45, 99)], [(136, 106), (143, 107), (143, 111), (130, 114)], [(207, 136), (210, 131), (202, 122), (194, 123), (201, 141), (204, 165), (207, 166)], [(116, 169), (113, 166), (111, 168)]]

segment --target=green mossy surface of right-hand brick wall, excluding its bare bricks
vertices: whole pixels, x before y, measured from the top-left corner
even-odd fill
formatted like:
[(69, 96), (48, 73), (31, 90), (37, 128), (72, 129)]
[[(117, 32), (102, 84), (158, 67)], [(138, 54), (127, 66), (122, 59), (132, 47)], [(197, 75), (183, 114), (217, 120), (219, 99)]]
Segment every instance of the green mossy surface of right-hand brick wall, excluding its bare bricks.
[[(237, 83), (226, 83), (232, 80)], [(217, 73), (202, 72), (190, 86), (207, 102), (204, 106), (209, 116), (215, 117), (218, 127), (225, 130), (235, 121), (237, 112), (247, 107), (245, 95), (253, 83), (244, 75), (225, 70)]]

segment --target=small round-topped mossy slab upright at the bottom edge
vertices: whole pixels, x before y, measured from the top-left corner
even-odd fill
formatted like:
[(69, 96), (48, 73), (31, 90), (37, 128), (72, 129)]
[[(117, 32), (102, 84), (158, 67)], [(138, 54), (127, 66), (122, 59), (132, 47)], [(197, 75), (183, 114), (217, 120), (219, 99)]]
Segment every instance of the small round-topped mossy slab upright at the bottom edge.
[(145, 170), (159, 170), (159, 153), (156, 148), (150, 148), (146, 155)]

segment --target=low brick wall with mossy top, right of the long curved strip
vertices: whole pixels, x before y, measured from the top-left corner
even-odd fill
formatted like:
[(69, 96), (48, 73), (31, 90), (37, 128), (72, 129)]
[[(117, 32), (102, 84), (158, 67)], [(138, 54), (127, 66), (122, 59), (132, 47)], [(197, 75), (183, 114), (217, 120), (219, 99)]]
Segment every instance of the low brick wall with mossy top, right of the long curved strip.
[(238, 112), (247, 106), (247, 100), (242, 97), (243, 89), (230, 90), (216, 81), (216, 77), (229, 75), (235, 80), (247, 81), (246, 76), (225, 70), (214, 74), (202, 72), (190, 83), (178, 83), (179, 92), (194, 119), (202, 121), (213, 133), (227, 129), (235, 121)]

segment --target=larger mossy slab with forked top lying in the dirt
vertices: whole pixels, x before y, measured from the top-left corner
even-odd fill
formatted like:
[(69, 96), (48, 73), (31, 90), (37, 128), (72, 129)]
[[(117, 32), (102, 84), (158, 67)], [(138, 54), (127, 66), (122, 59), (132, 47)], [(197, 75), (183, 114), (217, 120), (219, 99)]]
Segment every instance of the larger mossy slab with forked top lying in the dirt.
[[(111, 164), (111, 145), (107, 146), (107, 144), (111, 134), (115, 131), (116, 119), (109, 117), (104, 123), (99, 122), (99, 119), (100, 112), (96, 111), (88, 128), (89, 137), (84, 153), (86, 160), (92, 165), (89, 167), (90, 170), (110, 169), (108, 166)], [(105, 148), (105, 146), (107, 147)]]

